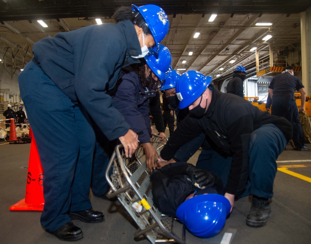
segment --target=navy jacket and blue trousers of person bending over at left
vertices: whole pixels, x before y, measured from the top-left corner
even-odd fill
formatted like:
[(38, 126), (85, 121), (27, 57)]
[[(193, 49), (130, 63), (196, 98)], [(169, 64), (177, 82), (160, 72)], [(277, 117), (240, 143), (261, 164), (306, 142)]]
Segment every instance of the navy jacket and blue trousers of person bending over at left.
[(141, 47), (134, 25), (124, 20), (44, 38), (33, 53), (18, 81), (44, 169), (41, 224), (55, 231), (71, 221), (68, 212), (91, 208), (89, 115), (108, 140), (130, 128), (111, 96), (121, 68), (139, 62), (130, 55), (141, 54)]

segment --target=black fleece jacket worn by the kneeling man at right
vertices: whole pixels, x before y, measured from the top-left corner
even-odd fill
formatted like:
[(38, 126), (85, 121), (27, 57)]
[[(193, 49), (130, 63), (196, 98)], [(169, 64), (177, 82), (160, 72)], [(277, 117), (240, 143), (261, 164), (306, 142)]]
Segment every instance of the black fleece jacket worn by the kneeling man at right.
[(202, 131), (215, 151), (223, 156), (232, 156), (226, 192), (238, 195), (248, 178), (248, 151), (251, 133), (263, 124), (274, 124), (292, 138), (293, 127), (286, 119), (260, 111), (243, 98), (222, 93), (213, 85), (211, 103), (203, 117), (191, 113), (179, 124), (169, 138), (160, 156), (171, 159), (179, 147), (197, 137)]

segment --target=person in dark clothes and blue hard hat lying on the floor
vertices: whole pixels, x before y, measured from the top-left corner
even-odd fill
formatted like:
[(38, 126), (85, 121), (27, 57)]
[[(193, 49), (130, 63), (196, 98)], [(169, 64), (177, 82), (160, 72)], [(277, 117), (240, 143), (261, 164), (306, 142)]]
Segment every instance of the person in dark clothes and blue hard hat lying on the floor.
[(223, 195), (223, 182), (215, 174), (186, 162), (168, 164), (153, 170), (153, 204), (163, 214), (177, 217), (195, 236), (215, 236), (230, 213)]

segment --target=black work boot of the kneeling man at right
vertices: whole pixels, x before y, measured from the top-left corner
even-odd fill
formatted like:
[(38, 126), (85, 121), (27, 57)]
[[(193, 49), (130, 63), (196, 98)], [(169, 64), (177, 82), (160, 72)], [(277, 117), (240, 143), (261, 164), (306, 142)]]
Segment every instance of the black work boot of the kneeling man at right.
[(253, 196), (252, 208), (246, 218), (246, 224), (253, 227), (261, 227), (268, 223), (271, 215), (270, 199)]

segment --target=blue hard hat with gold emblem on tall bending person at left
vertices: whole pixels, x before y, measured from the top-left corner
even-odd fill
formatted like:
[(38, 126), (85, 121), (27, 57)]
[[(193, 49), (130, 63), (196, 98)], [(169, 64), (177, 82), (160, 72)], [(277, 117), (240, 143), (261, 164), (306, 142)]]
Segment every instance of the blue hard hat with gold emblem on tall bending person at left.
[(147, 4), (141, 7), (132, 4), (132, 10), (142, 15), (155, 39), (156, 47), (158, 47), (169, 31), (169, 19), (165, 11), (153, 4)]

